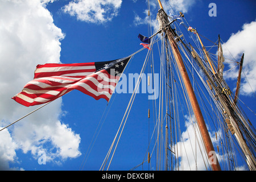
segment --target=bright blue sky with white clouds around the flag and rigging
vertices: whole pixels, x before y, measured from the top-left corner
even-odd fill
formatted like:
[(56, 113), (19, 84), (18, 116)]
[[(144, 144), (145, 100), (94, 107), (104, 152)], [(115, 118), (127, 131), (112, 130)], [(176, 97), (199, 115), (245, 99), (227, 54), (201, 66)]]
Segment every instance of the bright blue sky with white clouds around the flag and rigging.
[[(164, 2), (165, 10), (170, 13), (170, 6), (166, 6)], [(217, 5), (217, 16), (208, 14), (208, 6), (212, 2)], [(76, 6), (76, 3), (81, 4)], [(82, 6), (82, 3), (87, 4)], [(11, 100), (26, 82), (32, 80), (37, 64), (114, 60), (129, 56), (142, 48), (138, 34), (150, 36), (144, 19), (146, 1), (1, 0), (1, 4), (1, 127), (38, 107), (21, 106)], [(155, 19), (158, 8), (155, 1), (150, 1), (150, 4), (152, 19)], [(201, 35), (213, 42), (216, 42), (220, 34), (224, 46), (228, 47), (237, 61), (240, 60), (242, 52), (245, 52), (244, 72), (250, 85), (243, 77), (240, 98), (255, 113), (256, 3), (249, 0), (176, 0), (167, 4), (175, 9), (175, 14), (182, 11), (189, 25), (196, 27)], [(101, 14), (103, 10), (107, 13)], [(86, 14), (88, 11), (90, 13)], [(185, 35), (188, 33), (185, 32)], [(209, 44), (205, 39), (204, 42), (205, 46)], [(156, 44), (154, 46), (157, 47)], [(155, 48), (155, 54), (157, 52)], [(134, 56), (125, 70), (127, 75), (141, 71), (146, 54), (147, 49), (144, 49)], [(159, 71), (158, 67), (159, 61), (155, 59), (156, 72)], [(229, 67), (231, 65), (227, 63), (226, 68)], [(230, 88), (236, 88), (237, 70), (226, 73), (225, 77)], [(146, 154), (147, 96), (146, 93), (139, 93), (135, 98), (110, 166), (112, 170), (131, 169), (140, 164)], [(1, 138), (4, 138), (0, 141), (0, 169), (100, 169), (130, 97), (131, 93), (115, 93), (108, 104), (103, 99), (96, 101), (73, 90), (53, 101), (0, 132)], [(245, 112), (255, 126), (255, 114), (245, 105)], [(96, 133), (97, 140), (93, 148), (89, 148), (94, 133), (99, 129), (99, 123), (100, 126), (103, 123), (100, 133)], [(85, 156), (88, 148), (89, 151), (92, 150), (89, 156)], [(46, 164), (38, 163), (40, 151), (46, 152)], [(83, 160), (87, 156), (84, 164)], [(148, 169), (147, 164), (144, 169)]]

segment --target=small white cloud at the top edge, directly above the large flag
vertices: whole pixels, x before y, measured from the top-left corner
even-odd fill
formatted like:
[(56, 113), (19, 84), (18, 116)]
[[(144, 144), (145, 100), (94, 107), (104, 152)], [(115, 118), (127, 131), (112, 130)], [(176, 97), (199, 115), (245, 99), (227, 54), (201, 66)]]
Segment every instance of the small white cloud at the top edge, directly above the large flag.
[(117, 16), (122, 0), (74, 0), (63, 7), (65, 13), (90, 23), (104, 23)]

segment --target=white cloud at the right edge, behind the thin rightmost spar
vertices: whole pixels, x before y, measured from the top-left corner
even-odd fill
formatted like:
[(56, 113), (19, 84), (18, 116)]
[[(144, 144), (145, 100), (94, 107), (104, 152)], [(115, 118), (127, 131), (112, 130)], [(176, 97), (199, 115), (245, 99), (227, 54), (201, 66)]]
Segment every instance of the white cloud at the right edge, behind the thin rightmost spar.
[[(224, 56), (228, 59), (240, 62), (242, 53), (245, 53), (243, 60), (243, 74), (241, 80), (240, 94), (249, 95), (256, 90), (256, 22), (243, 24), (242, 30), (232, 34), (229, 40), (223, 44)], [(231, 55), (232, 56), (231, 56)], [(229, 68), (234, 64), (230, 63)], [(228, 70), (226, 68), (225, 70)], [(238, 68), (231, 69), (224, 74), (225, 78), (237, 80)], [(245, 77), (246, 76), (246, 77)], [(236, 89), (236, 88), (234, 88)]]

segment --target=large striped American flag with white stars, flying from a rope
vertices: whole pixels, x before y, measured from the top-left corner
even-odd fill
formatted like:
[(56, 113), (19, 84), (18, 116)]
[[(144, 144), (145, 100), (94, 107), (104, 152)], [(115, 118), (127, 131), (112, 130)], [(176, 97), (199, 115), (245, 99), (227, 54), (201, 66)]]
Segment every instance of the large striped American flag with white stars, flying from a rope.
[(110, 100), (131, 56), (113, 61), (37, 65), (34, 80), (13, 99), (24, 106), (44, 104), (74, 89)]

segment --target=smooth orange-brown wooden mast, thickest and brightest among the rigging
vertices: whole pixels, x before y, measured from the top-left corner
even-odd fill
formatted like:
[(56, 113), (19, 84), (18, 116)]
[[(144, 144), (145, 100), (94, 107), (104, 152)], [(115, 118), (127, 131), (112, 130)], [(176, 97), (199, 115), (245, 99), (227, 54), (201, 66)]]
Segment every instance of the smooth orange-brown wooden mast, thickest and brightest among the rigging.
[[(160, 2), (160, 0), (158, 0), (158, 2), (159, 2), (160, 8), (163, 9), (163, 6), (162, 6), (162, 3)], [(167, 19), (167, 21), (168, 21), (168, 19)], [(181, 76), (183, 78), (185, 88), (187, 89), (189, 101), (192, 104), (192, 108), (193, 108), (193, 111), (195, 113), (196, 121), (199, 125), (199, 129), (200, 129), (202, 138), (204, 140), (204, 145), (205, 145), (205, 148), (206, 148), (207, 153), (208, 153), (208, 158), (209, 158), (209, 160), (211, 160), (212, 159), (212, 154), (214, 152), (212, 140), (210, 139), (210, 135), (209, 135), (209, 132), (207, 130), (207, 126), (205, 125), (205, 122), (204, 122), (203, 114), (201, 113), (201, 109), (199, 107), (199, 103), (197, 101), (195, 92), (193, 91), (192, 84), (189, 80), (188, 73), (187, 73), (185, 65), (183, 63), (183, 59), (181, 57), (180, 51), (179, 51), (179, 49), (177, 47), (177, 44), (175, 42), (174, 32), (172, 32), (170, 30), (170, 28), (167, 28), (166, 34), (167, 34), (167, 38), (170, 42), (172, 51), (174, 53), (176, 63), (179, 67), (179, 71), (180, 71)], [(210, 164), (212, 166), (213, 171), (220, 171), (221, 170), (217, 157), (216, 157), (215, 161), (213, 161), (213, 162), (210, 161)]]

